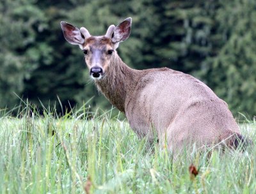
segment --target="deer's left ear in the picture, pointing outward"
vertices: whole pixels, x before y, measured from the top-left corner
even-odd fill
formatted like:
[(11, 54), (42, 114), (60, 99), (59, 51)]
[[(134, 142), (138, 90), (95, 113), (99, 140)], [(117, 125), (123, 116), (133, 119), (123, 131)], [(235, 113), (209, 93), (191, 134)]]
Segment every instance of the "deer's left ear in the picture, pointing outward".
[(61, 29), (65, 39), (72, 45), (82, 45), (84, 43), (84, 36), (82, 36), (80, 30), (68, 24), (67, 22), (60, 22)]

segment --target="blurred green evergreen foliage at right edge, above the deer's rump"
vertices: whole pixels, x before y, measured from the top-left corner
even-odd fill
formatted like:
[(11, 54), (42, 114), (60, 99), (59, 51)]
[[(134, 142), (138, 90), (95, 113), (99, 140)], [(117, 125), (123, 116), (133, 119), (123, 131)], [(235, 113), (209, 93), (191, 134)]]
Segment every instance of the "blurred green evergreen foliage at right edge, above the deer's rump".
[(256, 114), (256, 2), (221, 1), (215, 17), (216, 55), (204, 61), (207, 84), (234, 112)]

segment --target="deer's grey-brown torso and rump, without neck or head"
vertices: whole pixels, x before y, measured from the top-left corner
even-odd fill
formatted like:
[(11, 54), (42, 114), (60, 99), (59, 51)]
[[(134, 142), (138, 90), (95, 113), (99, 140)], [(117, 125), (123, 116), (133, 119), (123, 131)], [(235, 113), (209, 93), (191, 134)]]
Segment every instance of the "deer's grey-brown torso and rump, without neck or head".
[(125, 104), (127, 120), (139, 137), (152, 141), (157, 135), (173, 152), (193, 143), (201, 147), (223, 141), (238, 146), (233, 145), (237, 143), (233, 136), (240, 134), (239, 126), (227, 103), (203, 82), (168, 68), (141, 73)]

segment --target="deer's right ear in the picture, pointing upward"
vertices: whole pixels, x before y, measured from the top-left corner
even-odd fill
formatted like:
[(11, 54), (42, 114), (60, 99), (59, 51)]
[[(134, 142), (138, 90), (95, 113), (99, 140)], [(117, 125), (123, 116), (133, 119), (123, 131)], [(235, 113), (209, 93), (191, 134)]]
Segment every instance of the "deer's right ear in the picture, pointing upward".
[(131, 33), (132, 26), (132, 18), (129, 17), (121, 22), (118, 26), (115, 27), (114, 32), (112, 34), (112, 42), (118, 43), (120, 41), (126, 40)]

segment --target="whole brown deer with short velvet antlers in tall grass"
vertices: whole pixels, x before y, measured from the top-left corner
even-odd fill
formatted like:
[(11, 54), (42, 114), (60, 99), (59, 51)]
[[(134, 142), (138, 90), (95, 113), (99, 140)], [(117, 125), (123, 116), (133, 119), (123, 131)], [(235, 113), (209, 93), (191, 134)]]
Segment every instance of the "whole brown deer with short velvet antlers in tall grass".
[(116, 48), (131, 33), (131, 17), (92, 36), (61, 21), (65, 40), (78, 45), (90, 77), (99, 91), (120, 112), (132, 130), (148, 142), (157, 138), (178, 153), (188, 145), (203, 147), (225, 142), (236, 149), (250, 143), (239, 130), (225, 101), (197, 78), (170, 68), (135, 70), (118, 56)]

